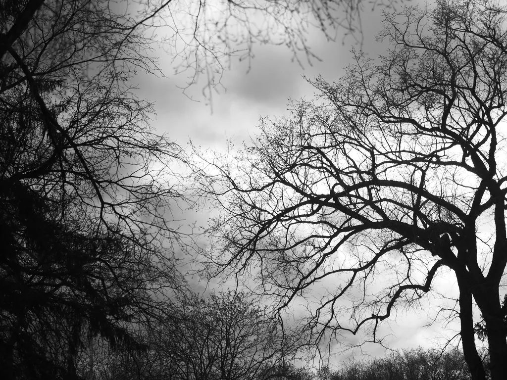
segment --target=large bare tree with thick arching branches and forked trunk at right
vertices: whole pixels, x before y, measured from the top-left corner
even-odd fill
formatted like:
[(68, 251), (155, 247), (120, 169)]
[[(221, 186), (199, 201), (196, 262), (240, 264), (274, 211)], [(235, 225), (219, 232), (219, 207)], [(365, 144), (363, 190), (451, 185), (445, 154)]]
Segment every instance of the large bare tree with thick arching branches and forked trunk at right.
[(281, 306), (314, 290), (317, 339), (374, 342), (396, 310), (436, 302), (434, 281), (451, 273), (459, 296), (441, 312), (459, 320), (472, 378), (485, 378), (476, 323), (491, 377), (505, 378), (505, 15), (474, 0), (388, 14), (386, 55), (356, 53), (338, 83), (313, 82), (313, 103), (263, 120), (237, 159), (208, 160), (218, 174), (206, 168), (203, 188), (226, 211), (207, 269), (256, 275)]

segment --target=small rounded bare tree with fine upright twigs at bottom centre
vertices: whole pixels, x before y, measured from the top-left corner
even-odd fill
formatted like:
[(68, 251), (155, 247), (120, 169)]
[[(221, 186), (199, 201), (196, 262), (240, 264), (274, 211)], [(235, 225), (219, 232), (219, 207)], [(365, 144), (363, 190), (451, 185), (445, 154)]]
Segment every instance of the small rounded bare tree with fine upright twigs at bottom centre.
[(175, 315), (163, 349), (178, 368), (173, 378), (256, 379), (300, 347), (299, 334), (282, 330), (245, 293), (191, 294)]

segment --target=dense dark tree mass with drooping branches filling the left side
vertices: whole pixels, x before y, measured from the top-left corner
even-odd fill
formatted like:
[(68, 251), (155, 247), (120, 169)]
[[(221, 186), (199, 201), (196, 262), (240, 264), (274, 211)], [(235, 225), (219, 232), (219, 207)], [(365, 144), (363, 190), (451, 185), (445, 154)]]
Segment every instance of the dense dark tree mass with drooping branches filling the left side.
[(33, 4), (0, 9), (12, 25), (0, 44), (0, 367), (70, 378), (91, 337), (146, 349), (134, 332), (182, 287), (168, 215), (185, 155), (127, 85), (156, 69), (149, 41), (108, 2)]

